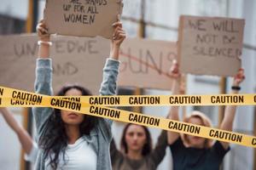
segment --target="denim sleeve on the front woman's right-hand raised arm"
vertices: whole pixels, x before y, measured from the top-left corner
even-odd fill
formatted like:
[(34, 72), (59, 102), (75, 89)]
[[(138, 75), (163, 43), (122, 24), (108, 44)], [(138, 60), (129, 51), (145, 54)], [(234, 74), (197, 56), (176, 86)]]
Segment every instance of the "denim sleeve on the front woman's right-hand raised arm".
[[(100, 88), (101, 95), (115, 95), (116, 81), (119, 74), (119, 61), (114, 59), (107, 59), (103, 68), (103, 80)], [(111, 125), (112, 121), (108, 119), (99, 119), (99, 127), (105, 139), (108, 142), (112, 139)]]

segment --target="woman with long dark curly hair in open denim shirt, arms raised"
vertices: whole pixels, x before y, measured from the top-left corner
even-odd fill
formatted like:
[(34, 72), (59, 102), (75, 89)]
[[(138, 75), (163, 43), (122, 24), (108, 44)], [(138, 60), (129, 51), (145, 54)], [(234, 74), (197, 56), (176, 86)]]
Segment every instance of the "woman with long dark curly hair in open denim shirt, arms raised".
[[(113, 24), (110, 57), (103, 69), (101, 95), (113, 95), (119, 72), (119, 47), (125, 39), (122, 24)], [(38, 24), (39, 51), (36, 65), (35, 90), (52, 95), (52, 64), (49, 59), (50, 37), (44, 20)], [(91, 95), (79, 86), (61, 88), (58, 95)], [(112, 121), (51, 108), (33, 108), (37, 135), (36, 169), (108, 170), (111, 169), (109, 144)]]

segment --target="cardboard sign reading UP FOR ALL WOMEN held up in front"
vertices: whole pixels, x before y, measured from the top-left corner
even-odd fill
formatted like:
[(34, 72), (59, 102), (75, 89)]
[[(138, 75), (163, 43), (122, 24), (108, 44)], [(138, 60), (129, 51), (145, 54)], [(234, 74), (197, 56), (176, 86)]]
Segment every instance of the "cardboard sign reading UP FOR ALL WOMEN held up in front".
[(49, 33), (109, 39), (122, 8), (122, 0), (48, 0), (44, 20)]

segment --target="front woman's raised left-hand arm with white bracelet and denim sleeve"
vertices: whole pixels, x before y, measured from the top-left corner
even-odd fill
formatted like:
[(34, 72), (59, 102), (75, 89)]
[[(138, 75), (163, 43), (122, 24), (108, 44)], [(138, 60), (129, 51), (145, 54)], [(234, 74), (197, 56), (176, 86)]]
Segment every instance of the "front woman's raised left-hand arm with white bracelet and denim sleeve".
[[(38, 94), (52, 95), (52, 66), (49, 59), (49, 34), (45, 26), (44, 20), (41, 20), (37, 26), (39, 49), (36, 65), (35, 91)], [(38, 136), (44, 130), (44, 124), (49, 118), (51, 108), (32, 108), (35, 117)]]

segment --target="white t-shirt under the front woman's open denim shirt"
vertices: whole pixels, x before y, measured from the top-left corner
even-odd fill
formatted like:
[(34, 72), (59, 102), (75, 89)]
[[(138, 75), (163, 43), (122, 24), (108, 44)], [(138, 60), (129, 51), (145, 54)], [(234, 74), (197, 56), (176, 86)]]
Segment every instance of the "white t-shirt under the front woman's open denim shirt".
[[(60, 154), (58, 170), (96, 170), (96, 152), (83, 137), (74, 144), (67, 144), (65, 160), (64, 165), (63, 155)], [(51, 169), (49, 159), (45, 161), (44, 166), (46, 170)]]

